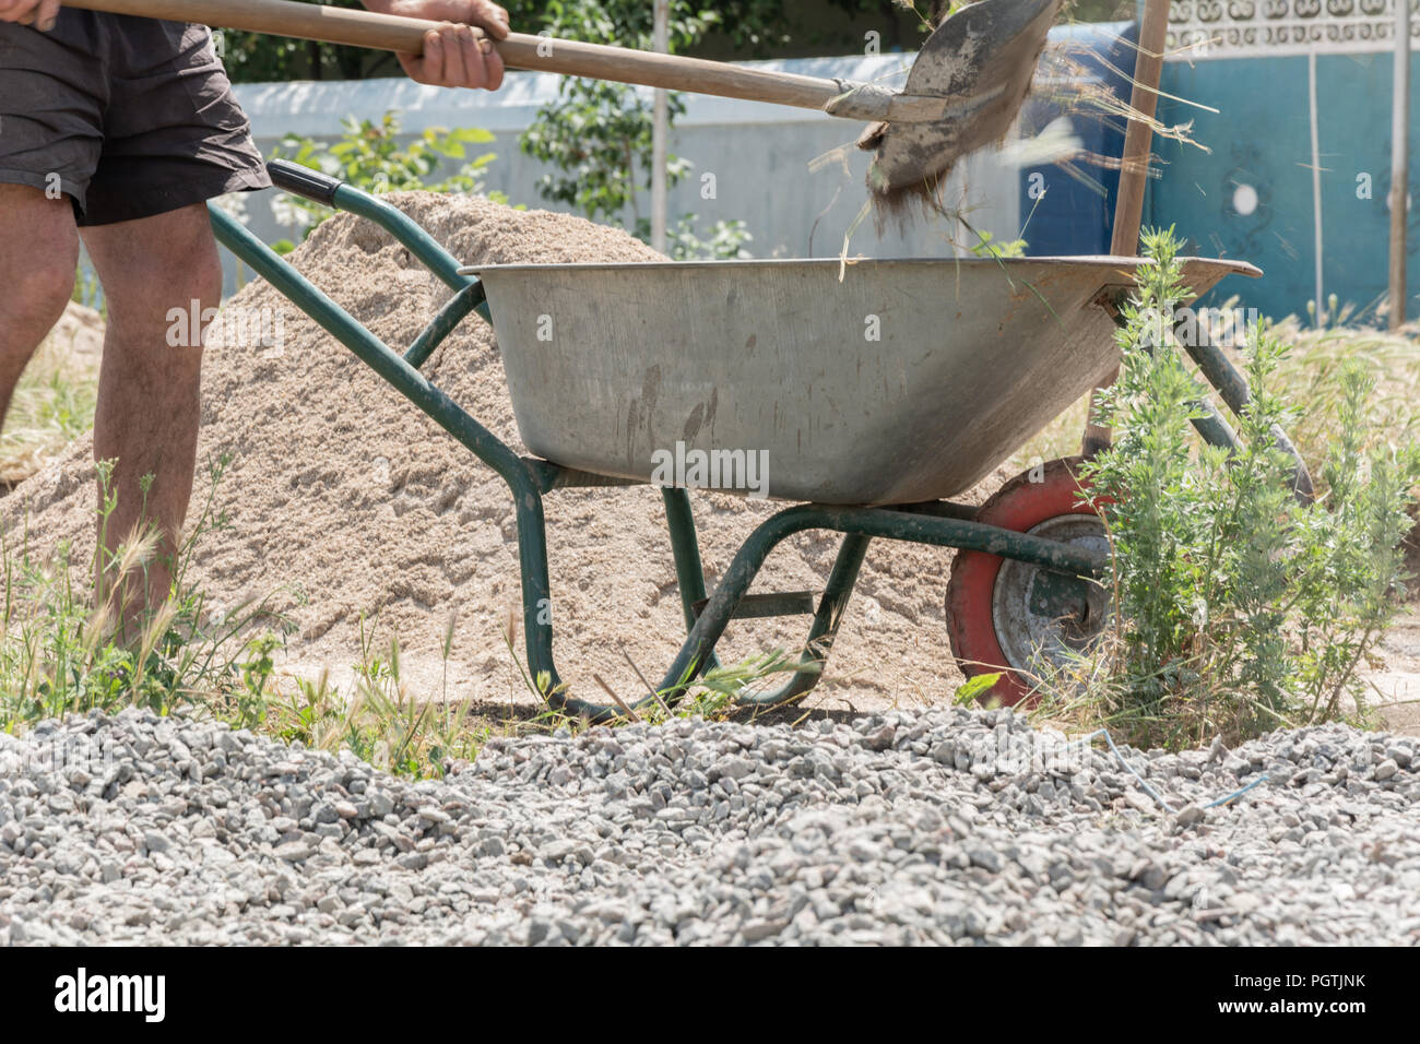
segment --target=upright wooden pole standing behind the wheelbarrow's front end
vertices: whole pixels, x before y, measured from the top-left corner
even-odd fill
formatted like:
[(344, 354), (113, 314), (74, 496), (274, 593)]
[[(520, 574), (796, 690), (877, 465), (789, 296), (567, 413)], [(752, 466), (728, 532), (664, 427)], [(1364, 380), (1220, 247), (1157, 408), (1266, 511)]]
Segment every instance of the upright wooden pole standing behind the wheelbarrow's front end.
[[(1129, 92), (1129, 104), (1143, 116), (1130, 119), (1125, 131), (1119, 196), (1115, 200), (1115, 230), (1109, 240), (1109, 253), (1120, 257), (1135, 257), (1139, 253), (1139, 226), (1143, 222), (1149, 153), (1153, 148), (1153, 125), (1147, 121), (1153, 119), (1159, 105), (1159, 77), (1163, 74), (1163, 51), (1169, 33), (1169, 4), (1170, 0), (1145, 0), (1145, 17), (1139, 26), (1139, 54), (1135, 58), (1135, 84)], [(1109, 429), (1095, 423), (1095, 409), (1099, 405), (1099, 392), (1115, 384), (1118, 376), (1119, 371), (1115, 369), (1091, 395), (1085, 439), (1081, 443), (1081, 453), (1086, 457), (1109, 449)]]

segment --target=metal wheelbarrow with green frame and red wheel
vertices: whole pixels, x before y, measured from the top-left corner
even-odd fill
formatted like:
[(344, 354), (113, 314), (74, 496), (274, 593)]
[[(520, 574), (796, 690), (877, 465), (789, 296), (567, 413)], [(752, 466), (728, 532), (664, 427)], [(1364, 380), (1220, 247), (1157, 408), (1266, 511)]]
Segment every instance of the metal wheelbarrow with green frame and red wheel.
[[(736, 618), (811, 616), (788, 680), (743, 705), (795, 700), (819, 680), (869, 545), (957, 548), (946, 604), (967, 675), (1001, 672), (995, 695), (1031, 692), (1041, 655), (1078, 648), (1108, 616), (1096, 582), (1109, 548), (1072, 460), (956, 503), (1118, 365), (1113, 328), (1140, 261), (1123, 257), (506, 264), (466, 268), (389, 203), (273, 161), (273, 183), (369, 219), (453, 295), (403, 354), (382, 342), (217, 209), (217, 239), (427, 413), (508, 484), (523, 629), (550, 705), (604, 720), (615, 705), (571, 695), (552, 658), (544, 497), (650, 484), (665, 500), (687, 629), (656, 699), (673, 702), (719, 665)], [(1189, 259), (1206, 293), (1242, 261)], [(491, 322), (520, 456), (430, 384), (420, 366), (470, 314)], [(1234, 410), (1244, 378), (1213, 345), (1187, 344)], [(1204, 439), (1234, 446), (1216, 410)], [(1284, 440), (1285, 442), (1285, 440)], [(1288, 443), (1289, 446), (1289, 443)], [(1295, 457), (1295, 450), (1294, 450)], [(1298, 459), (1298, 487), (1309, 480)], [(754, 528), (706, 589), (689, 490), (792, 501)], [(770, 553), (805, 530), (842, 534), (822, 594), (750, 594)], [(541, 685), (542, 682), (540, 682)]]

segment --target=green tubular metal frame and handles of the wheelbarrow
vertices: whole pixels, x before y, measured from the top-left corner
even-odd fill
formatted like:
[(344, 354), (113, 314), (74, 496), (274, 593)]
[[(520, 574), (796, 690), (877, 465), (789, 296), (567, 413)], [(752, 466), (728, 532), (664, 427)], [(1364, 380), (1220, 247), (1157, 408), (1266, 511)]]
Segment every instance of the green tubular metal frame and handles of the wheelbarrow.
[[(565, 469), (547, 460), (520, 457), (507, 443), (430, 384), (419, 372), (419, 366), (459, 322), (470, 312), (491, 322), (483, 287), (476, 278), (460, 276), (454, 257), (413, 220), (388, 203), (346, 185), (334, 187), (322, 202), (379, 224), (456, 291), (403, 355), (375, 337), (283, 257), (216, 207), (212, 209), (212, 224), (223, 246), (503, 477), (517, 514), (523, 631), (527, 636), (531, 675), (547, 679), (545, 696), (555, 707), (594, 720), (618, 716), (621, 710), (613, 705), (591, 703), (569, 696), (554, 663), (551, 581), (542, 497), (552, 490), (568, 487), (648, 483), (609, 479)], [(903, 540), (987, 551), (1078, 577), (1099, 577), (1106, 568), (1102, 558), (1071, 545), (977, 523), (974, 509), (950, 501), (895, 507), (798, 504), (771, 516), (750, 534), (697, 615), (694, 607), (706, 599), (706, 581), (690, 496), (683, 489), (662, 489), (660, 493), (666, 506), (666, 523), (687, 629), (684, 643), (657, 690), (665, 700), (682, 696), (696, 678), (719, 663), (714, 655), (716, 645), (730, 619), (736, 616), (751, 582), (770, 553), (795, 533), (831, 530), (843, 534), (843, 541), (814, 614), (798, 669), (788, 682), (772, 692), (744, 692), (741, 703), (778, 705), (804, 696), (816, 685), (848, 608), (868, 545), (873, 540)], [(640, 707), (655, 699), (656, 695), (648, 692), (632, 706)]]

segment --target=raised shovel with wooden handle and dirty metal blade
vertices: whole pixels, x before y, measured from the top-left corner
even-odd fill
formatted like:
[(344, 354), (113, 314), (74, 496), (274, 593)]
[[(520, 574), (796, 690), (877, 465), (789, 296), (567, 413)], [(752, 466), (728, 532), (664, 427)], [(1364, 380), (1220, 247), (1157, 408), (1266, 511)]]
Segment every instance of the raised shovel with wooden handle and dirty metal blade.
[[(274, 36), (422, 54), (433, 23), (291, 0), (67, 0), (68, 7), (190, 21)], [(559, 72), (797, 105), (869, 121), (859, 145), (875, 152), (875, 202), (932, 190), (966, 153), (1005, 136), (1030, 91), (1061, 0), (981, 0), (939, 24), (902, 92), (848, 80), (743, 68), (623, 47), (510, 33), (494, 41), (508, 68)]]

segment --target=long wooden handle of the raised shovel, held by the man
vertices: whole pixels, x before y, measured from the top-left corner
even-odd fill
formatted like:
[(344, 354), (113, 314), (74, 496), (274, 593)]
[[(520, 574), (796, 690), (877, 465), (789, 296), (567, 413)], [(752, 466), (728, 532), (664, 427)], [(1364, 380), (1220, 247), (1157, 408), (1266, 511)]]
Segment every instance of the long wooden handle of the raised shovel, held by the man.
[[(72, 3), (67, 0), (67, 6), (403, 54), (422, 54), (425, 34), (435, 24), (423, 18), (298, 4), (291, 0), (72, 0)], [(669, 91), (767, 101), (808, 109), (822, 109), (843, 94), (843, 87), (834, 80), (765, 72), (701, 58), (648, 54), (625, 47), (605, 47), (525, 33), (510, 33), (507, 40), (497, 40), (494, 45), (508, 68), (663, 87)]]

